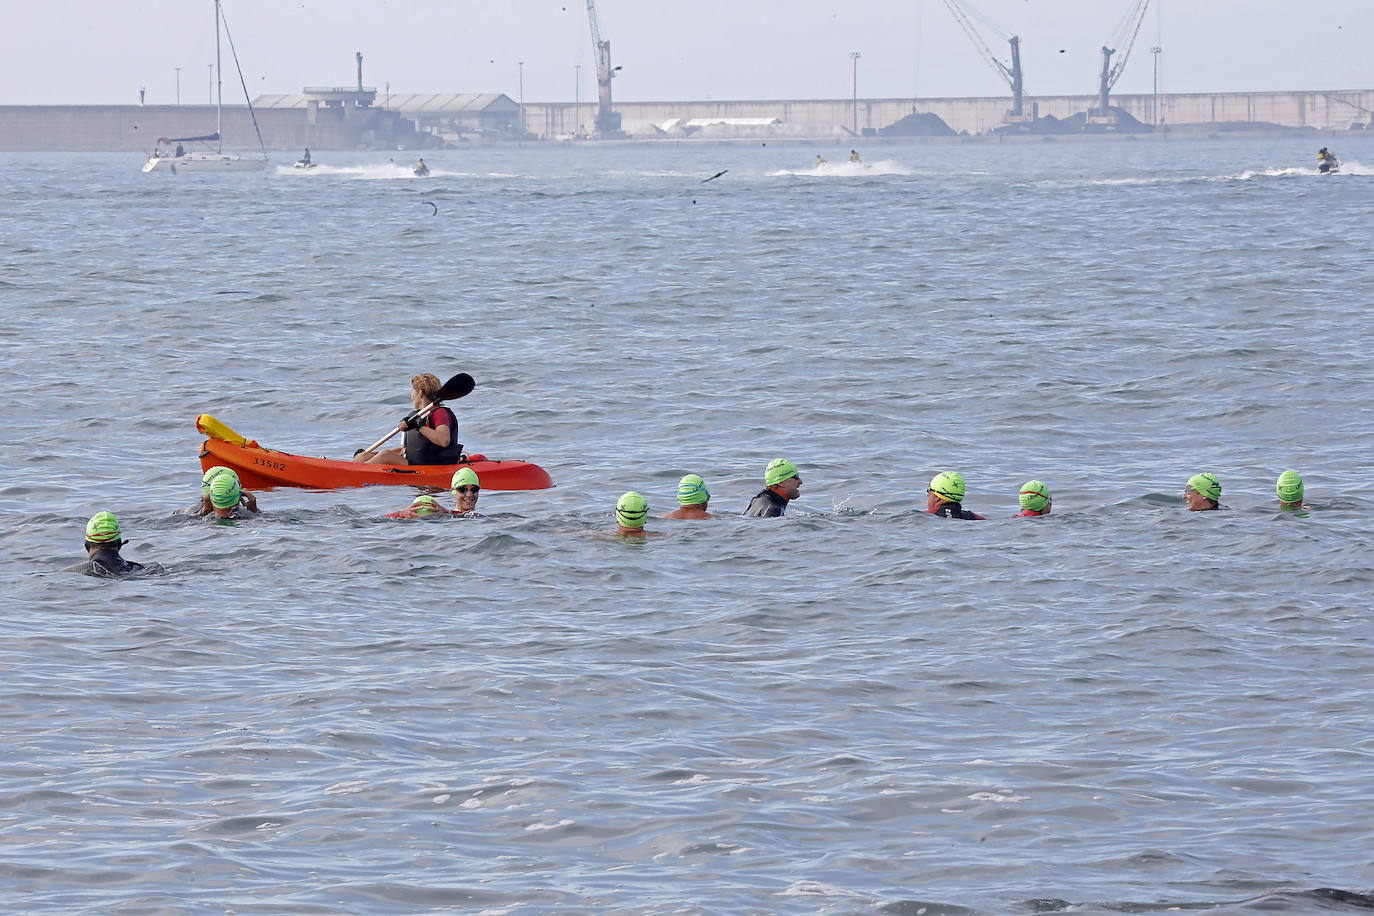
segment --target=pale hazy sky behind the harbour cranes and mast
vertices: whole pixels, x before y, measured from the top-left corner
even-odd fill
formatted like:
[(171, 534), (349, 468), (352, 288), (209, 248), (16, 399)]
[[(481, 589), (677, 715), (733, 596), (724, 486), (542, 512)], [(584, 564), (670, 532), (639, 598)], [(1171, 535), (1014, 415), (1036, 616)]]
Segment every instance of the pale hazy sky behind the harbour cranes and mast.
[[(585, 0), (223, 0), (251, 95), (363, 81), (392, 92), (596, 93)], [(1035, 95), (1096, 92), (1136, 0), (977, 0), (992, 52), (1022, 40)], [(1318, 14), (1319, 11), (1319, 14)], [(944, 0), (596, 0), (624, 100), (1004, 95)], [(976, 18), (977, 21), (977, 18)], [(213, 0), (5, 0), (0, 104), (148, 104), (210, 98)], [(1374, 0), (1151, 0), (1117, 92), (1374, 88)], [(1124, 44), (1120, 45), (1124, 49)], [(242, 103), (225, 49), (225, 102)]]

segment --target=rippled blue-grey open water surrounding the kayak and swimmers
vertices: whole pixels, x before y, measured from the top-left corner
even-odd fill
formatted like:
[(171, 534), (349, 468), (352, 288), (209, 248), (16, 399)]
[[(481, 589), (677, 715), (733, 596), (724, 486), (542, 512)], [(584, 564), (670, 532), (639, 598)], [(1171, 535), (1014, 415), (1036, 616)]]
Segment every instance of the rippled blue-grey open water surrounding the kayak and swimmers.
[[(0, 157), (0, 908), (1369, 912), (1374, 140), (860, 152)], [(420, 371), (558, 488), (173, 514)]]

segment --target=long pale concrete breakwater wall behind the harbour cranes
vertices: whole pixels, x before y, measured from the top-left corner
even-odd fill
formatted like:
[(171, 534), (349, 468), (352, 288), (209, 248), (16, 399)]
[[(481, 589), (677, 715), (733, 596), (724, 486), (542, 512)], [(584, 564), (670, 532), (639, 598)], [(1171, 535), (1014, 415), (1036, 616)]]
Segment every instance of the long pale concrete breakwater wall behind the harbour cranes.
[[(1370, 126), (1374, 89), (1305, 92), (1231, 92), (1113, 95), (1114, 106), (1136, 121), (1172, 128), (1187, 125), (1276, 125), (1315, 130)], [(1029, 100), (1041, 118), (1069, 118), (1096, 104), (1095, 96), (1043, 96)], [(618, 102), (631, 139), (675, 136), (675, 122), (695, 119), (719, 126), (701, 137), (849, 137), (877, 133), (912, 113), (933, 114), (956, 133), (987, 133), (1003, 124), (1006, 98), (965, 99), (851, 99), (752, 102)], [(526, 103), (528, 137), (559, 140), (592, 133), (596, 107), (591, 103)], [(257, 108), (262, 141), (272, 150), (423, 148), (458, 139), (503, 139), (514, 130), (467, 133), (459, 113), (414, 117), (385, 107), (353, 110), (337, 119), (312, 118), (305, 107)], [(214, 130), (213, 106), (0, 106), (0, 150), (143, 150), (158, 137), (194, 136)], [(246, 106), (225, 106), (224, 146), (257, 148)], [(676, 136), (683, 136), (679, 129)]]

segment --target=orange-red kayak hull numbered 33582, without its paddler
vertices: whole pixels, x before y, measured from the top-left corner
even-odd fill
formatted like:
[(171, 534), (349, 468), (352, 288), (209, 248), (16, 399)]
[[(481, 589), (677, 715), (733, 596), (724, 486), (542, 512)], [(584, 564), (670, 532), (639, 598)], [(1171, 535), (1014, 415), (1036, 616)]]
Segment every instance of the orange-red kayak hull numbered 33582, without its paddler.
[(201, 446), (201, 468), (234, 468), (239, 482), (250, 489), (298, 486), (311, 490), (339, 490), (352, 486), (431, 486), (448, 489), (453, 472), (470, 467), (484, 490), (544, 490), (554, 479), (529, 461), (488, 461), (482, 456), (459, 464), (363, 464), (338, 459), (312, 459), (265, 449), (253, 442), (238, 445), (209, 438)]

